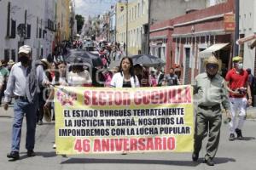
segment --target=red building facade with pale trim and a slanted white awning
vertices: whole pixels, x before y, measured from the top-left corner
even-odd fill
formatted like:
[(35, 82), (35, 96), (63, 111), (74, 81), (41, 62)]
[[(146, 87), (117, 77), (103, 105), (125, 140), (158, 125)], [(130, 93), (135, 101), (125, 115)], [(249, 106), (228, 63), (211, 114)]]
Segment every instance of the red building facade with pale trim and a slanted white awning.
[[(234, 22), (225, 23), (225, 19), (234, 18), (234, 13), (234, 0), (228, 0), (155, 24), (151, 26), (151, 45), (160, 50), (167, 46), (166, 69), (180, 65), (183, 84), (193, 82), (204, 71), (203, 61), (212, 52), (222, 63), (220, 71), (224, 74), (231, 66), (235, 28)], [(156, 54), (154, 50), (151, 53)]]

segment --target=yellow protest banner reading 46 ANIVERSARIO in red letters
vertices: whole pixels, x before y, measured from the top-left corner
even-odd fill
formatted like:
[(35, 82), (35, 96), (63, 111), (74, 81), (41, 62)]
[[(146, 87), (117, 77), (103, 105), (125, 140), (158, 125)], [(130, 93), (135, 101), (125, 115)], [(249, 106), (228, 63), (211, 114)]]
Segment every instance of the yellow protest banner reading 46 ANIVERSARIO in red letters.
[(191, 152), (191, 86), (55, 88), (56, 153)]

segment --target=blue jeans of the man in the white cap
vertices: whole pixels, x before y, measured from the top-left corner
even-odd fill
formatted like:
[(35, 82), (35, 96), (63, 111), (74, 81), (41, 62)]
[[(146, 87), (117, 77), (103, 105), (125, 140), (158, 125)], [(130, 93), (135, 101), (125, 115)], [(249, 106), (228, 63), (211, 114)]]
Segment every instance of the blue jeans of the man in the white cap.
[(21, 127), (24, 116), (26, 116), (26, 150), (34, 149), (37, 126), (37, 109), (37, 99), (33, 103), (29, 103), (26, 99), (15, 99), (12, 151), (20, 150)]

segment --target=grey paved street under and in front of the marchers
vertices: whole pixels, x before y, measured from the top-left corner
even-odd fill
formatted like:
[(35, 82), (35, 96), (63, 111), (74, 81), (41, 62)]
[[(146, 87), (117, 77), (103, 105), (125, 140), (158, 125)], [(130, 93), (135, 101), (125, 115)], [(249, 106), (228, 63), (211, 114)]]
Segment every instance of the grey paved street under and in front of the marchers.
[[(253, 110), (251, 110), (253, 111)], [(221, 141), (216, 165), (208, 167), (202, 162), (191, 161), (191, 154), (128, 154), (128, 155), (104, 155), (104, 156), (56, 156), (52, 149), (54, 142), (54, 124), (48, 123), (37, 127), (36, 148), (37, 156), (27, 157), (25, 149), (26, 126), (23, 127), (22, 141), (20, 144), (20, 160), (8, 161), (6, 154), (10, 150), (10, 135), (13, 111), (3, 111), (0, 108), (0, 167), (6, 170), (63, 170), (63, 169), (218, 169), (218, 170), (253, 170), (256, 167), (256, 121), (247, 120), (244, 127), (244, 140), (227, 140), (227, 127), (222, 127)], [(26, 125), (26, 124), (24, 124)], [(204, 147), (205, 148), (205, 147)], [(201, 157), (205, 151), (201, 150)]]

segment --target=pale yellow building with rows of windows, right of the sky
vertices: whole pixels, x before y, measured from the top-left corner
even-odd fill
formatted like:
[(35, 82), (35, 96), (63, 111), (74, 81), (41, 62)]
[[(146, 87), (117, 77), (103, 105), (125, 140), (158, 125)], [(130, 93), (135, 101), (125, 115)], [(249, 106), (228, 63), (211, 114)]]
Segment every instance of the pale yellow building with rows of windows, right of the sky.
[[(128, 18), (126, 17), (128, 8)], [(116, 37), (118, 42), (126, 43), (126, 23), (128, 22), (128, 55), (142, 51), (144, 39), (143, 25), (148, 24), (148, 0), (133, 0), (116, 5)]]

